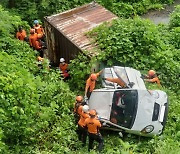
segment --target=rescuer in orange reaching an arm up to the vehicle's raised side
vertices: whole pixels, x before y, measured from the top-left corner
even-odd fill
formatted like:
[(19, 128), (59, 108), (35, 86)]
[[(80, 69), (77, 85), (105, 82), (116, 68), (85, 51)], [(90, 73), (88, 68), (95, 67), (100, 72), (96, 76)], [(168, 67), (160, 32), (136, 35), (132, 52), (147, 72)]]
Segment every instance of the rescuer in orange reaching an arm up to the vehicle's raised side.
[(101, 70), (98, 73), (92, 73), (90, 77), (86, 81), (86, 87), (85, 87), (85, 97), (89, 99), (91, 96), (92, 91), (94, 90), (96, 86), (96, 80), (98, 76), (102, 73), (103, 70)]

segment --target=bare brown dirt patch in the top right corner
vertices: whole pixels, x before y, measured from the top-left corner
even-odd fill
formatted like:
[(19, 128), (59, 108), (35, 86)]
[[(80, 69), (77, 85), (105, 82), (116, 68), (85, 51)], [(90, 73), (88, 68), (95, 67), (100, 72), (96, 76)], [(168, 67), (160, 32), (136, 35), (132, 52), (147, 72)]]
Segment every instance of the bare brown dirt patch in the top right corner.
[(174, 11), (175, 6), (180, 5), (180, 0), (176, 0), (172, 5), (164, 6), (163, 10), (151, 10), (148, 13), (142, 15), (142, 18), (150, 19), (155, 24), (168, 24), (170, 20), (170, 14)]

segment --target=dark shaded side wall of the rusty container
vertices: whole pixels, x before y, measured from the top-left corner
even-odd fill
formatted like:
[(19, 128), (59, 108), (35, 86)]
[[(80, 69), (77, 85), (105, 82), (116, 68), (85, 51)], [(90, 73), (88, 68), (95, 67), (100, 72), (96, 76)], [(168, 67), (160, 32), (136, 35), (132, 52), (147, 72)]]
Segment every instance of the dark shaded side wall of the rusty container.
[(81, 52), (66, 36), (54, 28), (45, 19), (45, 32), (48, 47), (48, 58), (55, 66), (59, 65), (59, 59), (63, 57), (67, 63)]

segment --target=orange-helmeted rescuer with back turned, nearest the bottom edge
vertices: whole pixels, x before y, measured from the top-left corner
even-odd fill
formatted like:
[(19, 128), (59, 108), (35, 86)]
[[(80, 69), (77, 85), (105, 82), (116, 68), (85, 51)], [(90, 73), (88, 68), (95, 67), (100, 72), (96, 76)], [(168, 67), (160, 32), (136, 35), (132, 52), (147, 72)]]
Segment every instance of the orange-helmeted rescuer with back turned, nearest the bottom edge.
[(104, 145), (104, 140), (103, 140), (102, 135), (99, 131), (99, 128), (101, 127), (101, 123), (97, 119), (96, 110), (90, 110), (89, 115), (90, 115), (90, 118), (87, 118), (85, 120), (85, 127), (87, 127), (88, 133), (89, 133), (88, 151), (93, 149), (94, 140), (99, 143), (98, 151), (101, 151), (103, 148), (103, 145)]

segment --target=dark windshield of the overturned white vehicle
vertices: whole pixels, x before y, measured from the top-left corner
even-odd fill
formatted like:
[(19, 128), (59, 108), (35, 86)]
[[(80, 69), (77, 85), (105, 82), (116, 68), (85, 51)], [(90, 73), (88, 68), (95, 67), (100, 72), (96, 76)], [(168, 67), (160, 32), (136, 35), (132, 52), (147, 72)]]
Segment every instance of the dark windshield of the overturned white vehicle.
[(110, 121), (130, 129), (137, 112), (137, 91), (117, 90), (114, 92), (112, 101)]

